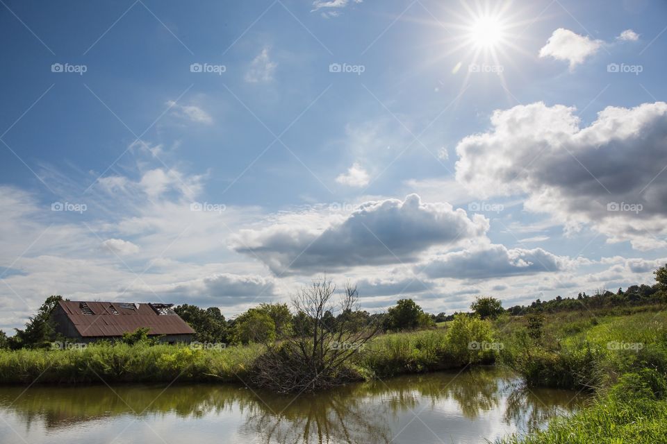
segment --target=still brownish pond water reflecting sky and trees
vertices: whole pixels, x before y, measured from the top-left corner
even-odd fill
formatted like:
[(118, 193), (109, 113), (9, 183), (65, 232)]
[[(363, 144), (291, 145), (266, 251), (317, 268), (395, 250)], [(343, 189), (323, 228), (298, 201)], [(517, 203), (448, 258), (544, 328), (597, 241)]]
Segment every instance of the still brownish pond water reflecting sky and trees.
[(229, 384), (0, 387), (0, 443), (484, 443), (584, 402), (493, 367), (296, 398)]

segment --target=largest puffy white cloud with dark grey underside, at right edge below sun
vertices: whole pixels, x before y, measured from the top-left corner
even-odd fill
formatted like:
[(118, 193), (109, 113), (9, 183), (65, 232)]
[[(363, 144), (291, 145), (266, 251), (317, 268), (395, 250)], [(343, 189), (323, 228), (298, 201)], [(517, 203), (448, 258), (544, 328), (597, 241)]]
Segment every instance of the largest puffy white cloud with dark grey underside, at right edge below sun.
[(479, 195), (525, 194), (525, 209), (589, 223), (609, 242), (667, 246), (667, 103), (608, 107), (579, 127), (575, 108), (497, 110), (493, 128), (456, 147), (456, 179)]

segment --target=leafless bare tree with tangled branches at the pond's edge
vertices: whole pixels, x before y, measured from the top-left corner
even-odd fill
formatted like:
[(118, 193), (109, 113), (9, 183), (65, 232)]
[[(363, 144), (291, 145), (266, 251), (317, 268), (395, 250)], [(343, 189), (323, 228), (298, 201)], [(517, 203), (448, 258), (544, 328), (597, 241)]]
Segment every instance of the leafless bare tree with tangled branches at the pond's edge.
[(293, 336), (266, 343), (257, 359), (252, 381), (281, 393), (315, 391), (360, 379), (350, 365), (365, 344), (379, 332), (379, 322), (355, 325), (350, 316), (337, 314), (359, 310), (359, 293), (347, 283), (336, 297), (336, 286), (318, 278), (292, 298), (300, 322)]

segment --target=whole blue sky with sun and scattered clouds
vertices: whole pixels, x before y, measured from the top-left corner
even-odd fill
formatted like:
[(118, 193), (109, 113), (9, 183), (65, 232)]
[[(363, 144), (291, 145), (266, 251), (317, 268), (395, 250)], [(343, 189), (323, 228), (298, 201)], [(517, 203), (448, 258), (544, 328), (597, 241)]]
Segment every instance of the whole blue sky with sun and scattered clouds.
[(667, 262), (664, 1), (1, 0), (0, 37), (6, 332), (53, 294), (450, 314)]

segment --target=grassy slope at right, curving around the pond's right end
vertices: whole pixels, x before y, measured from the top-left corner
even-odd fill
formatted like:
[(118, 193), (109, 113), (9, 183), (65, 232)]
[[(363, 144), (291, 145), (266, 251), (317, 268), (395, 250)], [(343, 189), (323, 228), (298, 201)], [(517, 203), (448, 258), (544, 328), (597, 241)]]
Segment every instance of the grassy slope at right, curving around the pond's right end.
[(496, 327), (507, 332), (500, 361), (529, 384), (597, 395), (579, 413), (501, 443), (667, 443), (664, 311), (559, 314), (545, 318), (541, 335), (533, 335), (539, 337), (527, 334), (525, 319), (500, 319)]

